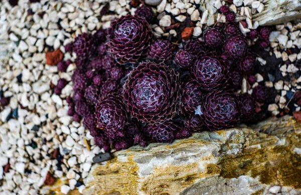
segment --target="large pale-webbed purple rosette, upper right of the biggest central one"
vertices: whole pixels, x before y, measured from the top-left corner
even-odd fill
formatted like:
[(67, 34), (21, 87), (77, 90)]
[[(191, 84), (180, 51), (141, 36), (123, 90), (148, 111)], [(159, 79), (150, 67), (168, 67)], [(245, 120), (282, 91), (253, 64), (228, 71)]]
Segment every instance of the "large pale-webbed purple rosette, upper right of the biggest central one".
[(198, 81), (202, 90), (210, 91), (227, 82), (227, 70), (222, 58), (200, 56), (191, 69), (191, 76)]

